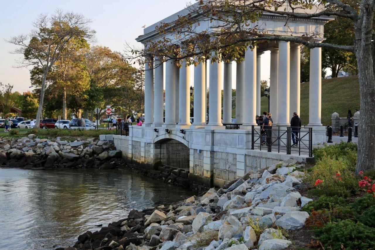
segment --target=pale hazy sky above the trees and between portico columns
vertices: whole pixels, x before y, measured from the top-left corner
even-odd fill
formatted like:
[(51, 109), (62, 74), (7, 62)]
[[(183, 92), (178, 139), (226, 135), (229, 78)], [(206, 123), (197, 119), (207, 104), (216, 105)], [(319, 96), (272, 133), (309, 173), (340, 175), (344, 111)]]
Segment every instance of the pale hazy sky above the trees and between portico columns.
[[(27, 34), (39, 14), (52, 13), (56, 9), (83, 14), (92, 20), (90, 27), (96, 31), (95, 45), (124, 51), (124, 44), (140, 47), (135, 41), (143, 34), (142, 26), (150, 26), (180, 11), (186, 0), (0, 0), (0, 82), (13, 84), (13, 91), (26, 92), (30, 84), (30, 68), (15, 68), (21, 55), (10, 54), (16, 46), (5, 39)], [(261, 80), (269, 81), (270, 53), (261, 56)], [(236, 64), (233, 63), (233, 88), (235, 88)]]

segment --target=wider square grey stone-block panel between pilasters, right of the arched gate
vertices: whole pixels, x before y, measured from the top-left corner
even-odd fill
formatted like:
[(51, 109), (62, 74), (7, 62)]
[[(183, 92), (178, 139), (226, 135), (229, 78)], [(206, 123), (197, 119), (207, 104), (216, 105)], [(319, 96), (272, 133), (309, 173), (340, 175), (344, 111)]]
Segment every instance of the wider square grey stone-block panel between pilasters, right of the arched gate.
[(213, 178), (231, 181), (236, 178), (237, 154), (214, 152)]

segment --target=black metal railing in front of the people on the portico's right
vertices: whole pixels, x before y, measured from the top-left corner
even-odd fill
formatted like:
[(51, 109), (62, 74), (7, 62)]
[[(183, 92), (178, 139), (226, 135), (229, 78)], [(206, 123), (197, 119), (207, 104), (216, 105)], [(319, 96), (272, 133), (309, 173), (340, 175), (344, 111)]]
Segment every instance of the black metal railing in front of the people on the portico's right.
[(253, 125), (251, 137), (251, 149), (312, 157), (312, 128)]

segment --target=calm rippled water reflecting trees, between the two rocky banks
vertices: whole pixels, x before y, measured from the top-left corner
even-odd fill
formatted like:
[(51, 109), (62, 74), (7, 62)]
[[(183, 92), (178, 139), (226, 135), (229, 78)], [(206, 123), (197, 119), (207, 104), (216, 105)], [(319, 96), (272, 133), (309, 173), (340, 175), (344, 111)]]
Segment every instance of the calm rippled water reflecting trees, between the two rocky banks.
[(67, 247), (133, 208), (193, 194), (120, 170), (0, 169), (0, 249)]

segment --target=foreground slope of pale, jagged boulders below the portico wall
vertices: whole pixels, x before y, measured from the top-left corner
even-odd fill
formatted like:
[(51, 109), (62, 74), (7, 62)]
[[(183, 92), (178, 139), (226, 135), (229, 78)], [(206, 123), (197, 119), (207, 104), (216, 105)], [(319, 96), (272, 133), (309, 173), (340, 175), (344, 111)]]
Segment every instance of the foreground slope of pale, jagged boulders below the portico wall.
[(303, 172), (294, 170), (296, 165), (281, 162), (248, 173), (225, 189), (211, 188), (176, 205), (132, 210), (123, 220), (80, 235), (73, 247), (57, 249), (287, 248), (291, 241), (283, 230), (298, 230), (305, 225), (309, 214), (300, 210), (311, 201), (298, 191), (304, 184), (300, 179)]

